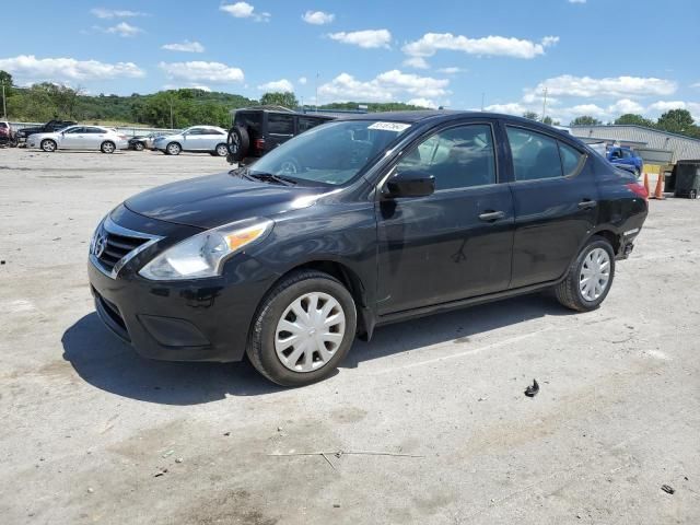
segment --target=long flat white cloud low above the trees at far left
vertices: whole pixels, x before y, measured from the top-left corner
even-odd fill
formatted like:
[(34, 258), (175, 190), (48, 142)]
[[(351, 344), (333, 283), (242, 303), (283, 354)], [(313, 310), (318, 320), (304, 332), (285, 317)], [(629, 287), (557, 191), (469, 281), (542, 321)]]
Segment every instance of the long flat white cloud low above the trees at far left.
[(0, 59), (3, 69), (20, 81), (86, 81), (116, 78), (140, 78), (145, 73), (133, 62), (106, 63), (97, 60), (75, 60), (74, 58), (36, 58), (20, 55)]

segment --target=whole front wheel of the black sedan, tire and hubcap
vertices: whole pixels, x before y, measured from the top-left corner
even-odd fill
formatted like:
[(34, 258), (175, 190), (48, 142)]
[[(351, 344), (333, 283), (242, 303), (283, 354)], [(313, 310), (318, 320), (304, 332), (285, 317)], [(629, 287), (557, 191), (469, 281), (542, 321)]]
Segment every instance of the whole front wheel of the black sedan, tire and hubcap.
[[(319, 312), (318, 318), (294, 314), (299, 308), (302, 314), (308, 313), (314, 303), (320, 306), (314, 308)], [(330, 310), (324, 314), (326, 307)], [(336, 323), (326, 325), (329, 320)], [(319, 324), (323, 334), (316, 331)], [(284, 325), (293, 331), (285, 330)], [(281, 386), (310, 385), (336, 371), (352, 347), (355, 329), (354, 301), (340, 281), (322, 271), (295, 271), (260, 302), (246, 353), (255, 369), (271, 382)], [(294, 339), (300, 343), (289, 342)]]

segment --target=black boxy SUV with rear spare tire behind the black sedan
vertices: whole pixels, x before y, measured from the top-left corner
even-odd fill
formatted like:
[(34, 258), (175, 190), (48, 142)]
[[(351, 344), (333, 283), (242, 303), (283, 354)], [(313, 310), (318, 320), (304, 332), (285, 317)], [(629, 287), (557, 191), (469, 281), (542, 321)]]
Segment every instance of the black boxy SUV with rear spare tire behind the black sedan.
[(282, 108), (238, 109), (229, 130), (228, 160), (231, 164), (248, 164), (292, 137), (334, 118)]

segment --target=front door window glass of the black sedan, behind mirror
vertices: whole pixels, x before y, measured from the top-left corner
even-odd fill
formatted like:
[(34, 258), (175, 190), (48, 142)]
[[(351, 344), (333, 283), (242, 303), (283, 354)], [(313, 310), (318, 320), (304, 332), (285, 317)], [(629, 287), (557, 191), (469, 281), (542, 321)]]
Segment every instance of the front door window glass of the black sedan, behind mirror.
[(451, 128), (429, 137), (397, 164), (435, 177), (435, 190), (495, 184), (493, 136), (489, 125)]

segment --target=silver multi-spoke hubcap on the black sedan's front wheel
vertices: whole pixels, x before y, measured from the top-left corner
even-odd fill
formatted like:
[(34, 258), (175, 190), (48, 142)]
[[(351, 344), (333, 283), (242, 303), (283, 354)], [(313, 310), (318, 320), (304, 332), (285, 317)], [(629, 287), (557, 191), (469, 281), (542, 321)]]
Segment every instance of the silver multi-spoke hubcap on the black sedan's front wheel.
[(340, 303), (327, 293), (305, 293), (287, 307), (277, 324), (275, 351), (289, 370), (313, 372), (332, 359), (345, 334)]

